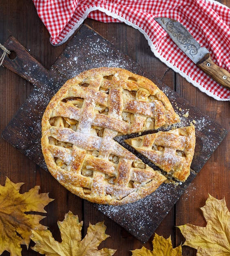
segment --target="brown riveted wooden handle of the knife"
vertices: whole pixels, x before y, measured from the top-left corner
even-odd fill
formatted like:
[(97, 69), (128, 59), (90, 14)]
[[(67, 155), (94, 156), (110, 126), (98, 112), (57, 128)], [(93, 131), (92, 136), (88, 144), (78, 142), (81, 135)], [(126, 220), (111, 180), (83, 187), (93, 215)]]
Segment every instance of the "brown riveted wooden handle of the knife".
[(208, 58), (205, 58), (205, 60), (199, 61), (197, 66), (200, 67), (203, 72), (205, 72), (217, 83), (223, 85), (225, 88), (230, 89), (230, 73), (215, 64), (212, 61), (210, 54), (208, 54)]

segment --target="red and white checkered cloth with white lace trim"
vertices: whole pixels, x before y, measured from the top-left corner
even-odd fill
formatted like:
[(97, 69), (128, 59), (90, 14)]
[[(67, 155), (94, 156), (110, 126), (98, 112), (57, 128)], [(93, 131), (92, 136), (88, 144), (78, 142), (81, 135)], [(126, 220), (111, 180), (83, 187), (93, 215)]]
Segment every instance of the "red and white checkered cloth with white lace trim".
[(230, 72), (230, 9), (214, 0), (33, 0), (51, 44), (64, 43), (86, 17), (125, 22), (141, 31), (162, 62), (199, 90), (230, 101), (230, 90), (210, 79), (173, 43), (154, 17), (179, 21), (208, 48), (212, 60)]

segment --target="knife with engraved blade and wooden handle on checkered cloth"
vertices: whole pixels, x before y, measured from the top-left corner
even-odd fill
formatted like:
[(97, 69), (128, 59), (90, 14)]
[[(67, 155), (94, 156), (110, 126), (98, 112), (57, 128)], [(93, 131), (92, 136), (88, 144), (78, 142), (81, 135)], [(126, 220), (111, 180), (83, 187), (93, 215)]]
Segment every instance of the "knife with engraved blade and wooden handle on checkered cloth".
[(230, 89), (230, 73), (212, 61), (210, 52), (192, 37), (189, 31), (176, 20), (154, 18), (163, 27), (176, 45), (199, 67), (220, 85)]

